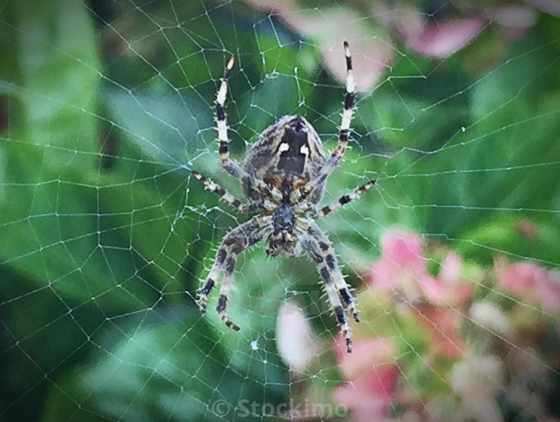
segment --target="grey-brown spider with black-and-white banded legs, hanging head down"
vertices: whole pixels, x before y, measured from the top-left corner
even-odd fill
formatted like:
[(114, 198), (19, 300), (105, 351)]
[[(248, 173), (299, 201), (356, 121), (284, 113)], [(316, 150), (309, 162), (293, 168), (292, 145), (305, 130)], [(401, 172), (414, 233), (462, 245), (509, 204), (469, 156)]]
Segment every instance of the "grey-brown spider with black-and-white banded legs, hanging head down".
[(199, 172), (193, 171), (193, 175), (204, 184), (205, 189), (218, 194), (222, 200), (240, 212), (257, 213), (249, 221), (235, 227), (223, 237), (206, 283), (199, 293), (200, 311), (206, 312), (208, 294), (223, 270), (216, 310), (226, 326), (239, 330), (226, 314), (227, 296), (233, 282), (236, 257), (241, 251), (267, 237), (265, 243), (267, 255), (277, 256), (284, 252), (297, 256), (302, 248), (305, 248), (307, 254), (316, 262), (319, 274), (325, 283), (330, 305), (346, 337), (346, 346), (350, 353), (352, 339), (343, 304), (350, 308), (356, 322), (360, 321), (360, 316), (348, 284), (340, 271), (333, 247), (315, 222), (316, 219), (358, 198), (375, 184), (375, 180), (371, 180), (351, 193), (340, 196), (332, 204), (318, 209), (318, 203), (325, 191), (326, 179), (342, 160), (350, 132), (355, 84), (352, 57), (346, 41), (344, 41), (344, 55), (347, 76), (342, 123), (338, 145), (328, 158), (323, 151), (319, 135), (300, 115), (283, 116), (268, 126), (247, 152), (243, 167), (230, 158), (224, 103), (227, 79), (235, 60), (232, 56), (226, 65), (216, 96), (216, 130), (222, 166), (240, 180), (247, 203), (242, 203)]

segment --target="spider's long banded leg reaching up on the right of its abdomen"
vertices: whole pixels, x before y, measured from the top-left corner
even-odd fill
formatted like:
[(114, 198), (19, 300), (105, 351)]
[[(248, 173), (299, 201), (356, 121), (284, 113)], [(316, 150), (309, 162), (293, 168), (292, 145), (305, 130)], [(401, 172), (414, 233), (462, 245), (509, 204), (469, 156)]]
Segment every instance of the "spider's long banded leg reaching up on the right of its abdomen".
[(338, 133), (338, 145), (333, 149), (328, 160), (319, 173), (300, 189), (296, 189), (291, 194), (292, 203), (297, 203), (305, 199), (317, 186), (323, 184), (327, 177), (337, 167), (342, 160), (346, 147), (348, 145), (348, 134), (350, 132), (350, 123), (352, 121), (354, 96), (356, 93), (356, 82), (354, 82), (354, 72), (352, 70), (352, 55), (350, 54), (350, 46), (344, 41), (344, 56), (346, 57), (346, 95), (344, 96), (344, 110), (342, 111), (342, 121)]

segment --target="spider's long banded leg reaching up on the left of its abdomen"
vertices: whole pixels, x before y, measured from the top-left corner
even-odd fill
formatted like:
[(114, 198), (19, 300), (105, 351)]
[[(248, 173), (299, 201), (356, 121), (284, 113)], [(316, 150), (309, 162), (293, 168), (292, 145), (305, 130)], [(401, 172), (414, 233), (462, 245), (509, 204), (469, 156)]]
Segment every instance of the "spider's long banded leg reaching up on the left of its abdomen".
[(276, 189), (276, 187), (271, 189), (263, 180), (251, 176), (241, 168), (239, 163), (230, 158), (230, 151), (228, 149), (229, 140), (227, 138), (227, 119), (224, 105), (227, 94), (227, 79), (230, 77), (234, 62), (235, 56), (232, 55), (223, 71), (223, 77), (220, 79), (220, 88), (216, 94), (216, 130), (218, 131), (218, 141), (220, 142), (218, 152), (220, 153), (222, 167), (232, 176), (235, 176), (242, 182), (246, 182), (247, 186), (250, 186), (250, 189), (256, 190), (259, 196), (262, 196), (264, 193), (266, 196), (272, 196), (280, 201), (282, 200), (282, 193)]

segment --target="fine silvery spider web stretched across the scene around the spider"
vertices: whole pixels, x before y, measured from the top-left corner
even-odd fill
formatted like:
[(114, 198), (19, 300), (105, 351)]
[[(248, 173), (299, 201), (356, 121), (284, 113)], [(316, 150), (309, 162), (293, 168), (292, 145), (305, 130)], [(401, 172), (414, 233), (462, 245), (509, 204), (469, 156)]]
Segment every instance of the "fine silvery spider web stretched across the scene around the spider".
[[(417, 14), (440, 30), (473, 13), (435, 3)], [(357, 110), (351, 149), (323, 203), (377, 182), (319, 225), (362, 312), (354, 343), (383, 338), (398, 349), (370, 365), (393, 368), (395, 390), (407, 392), (405, 400), (387, 391), (376, 373), (388, 418), (447, 420), (449, 402), (468, 401), (449, 368), (477, 347), (539, 367), (553, 385), (543, 397), (557, 391), (558, 309), (488, 281), (496, 262), (560, 268), (556, 18), (519, 3), (538, 18), (533, 26), (514, 37), (500, 15), (485, 15), (468, 46), (430, 58), (391, 30), (413, 4), (277, 6), (0, 3), (2, 419), (320, 420), (305, 405), (337, 404), (333, 391), (343, 385), (365, 394), (333, 353), (340, 333), (306, 257), (271, 260), (262, 247), (239, 256), (228, 302), (239, 332), (213, 311), (217, 289), (206, 315), (195, 302), (221, 238), (246, 220), (190, 173), (242, 196), (221, 168), (214, 130), (227, 59), (236, 55), (226, 101), (234, 158), (296, 113), (330, 151), (342, 111), (343, 37), (352, 43)], [(317, 29), (331, 24), (340, 32)], [(473, 301), (521, 310), (517, 318), (530, 321), (524, 336), (447, 298), (441, 309), (470, 339), (458, 344), (397, 285), (385, 296), (372, 287), (382, 235), (395, 226), (419, 233), (434, 275), (442, 251), (458, 252)], [(279, 317), (279, 309), (291, 311)], [(430, 355), (418, 321), (432, 326), (422, 333), (451, 344), (451, 357)], [(312, 353), (298, 370), (278, 351), (304, 346)], [(508, 408), (500, 379), (488, 372), (475, 381), (495, 386)], [(245, 416), (242, 406), (253, 402)], [(416, 413), (403, 402), (416, 403)], [(304, 413), (280, 415), (283, 403)], [(516, 406), (505, 420), (554, 414), (543, 403)], [(348, 412), (335, 416), (363, 420), (352, 404), (341, 409)]]

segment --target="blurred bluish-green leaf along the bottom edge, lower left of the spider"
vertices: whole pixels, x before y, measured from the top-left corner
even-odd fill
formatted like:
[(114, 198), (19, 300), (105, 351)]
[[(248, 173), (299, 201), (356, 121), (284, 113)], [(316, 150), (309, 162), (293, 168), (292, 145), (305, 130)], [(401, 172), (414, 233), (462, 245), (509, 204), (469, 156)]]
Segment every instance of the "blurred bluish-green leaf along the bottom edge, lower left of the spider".
[(242, 348), (224, 354), (208, 330), (197, 310), (176, 307), (106, 327), (93, 340), (100, 349), (92, 363), (57, 378), (41, 420), (213, 420), (217, 400), (231, 406), (230, 416), (241, 400), (282, 402), (288, 384), (276, 365)]

